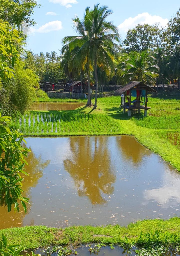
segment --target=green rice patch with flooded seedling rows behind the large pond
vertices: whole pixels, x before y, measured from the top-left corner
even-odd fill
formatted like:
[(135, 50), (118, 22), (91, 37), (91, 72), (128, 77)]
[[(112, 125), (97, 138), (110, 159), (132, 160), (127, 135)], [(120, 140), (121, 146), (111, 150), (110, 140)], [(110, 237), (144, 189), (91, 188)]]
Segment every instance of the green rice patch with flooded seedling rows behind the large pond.
[(119, 124), (105, 114), (83, 114), (70, 112), (35, 112), (21, 115), (14, 120), (14, 129), (25, 135), (75, 134), (75, 133), (118, 133)]

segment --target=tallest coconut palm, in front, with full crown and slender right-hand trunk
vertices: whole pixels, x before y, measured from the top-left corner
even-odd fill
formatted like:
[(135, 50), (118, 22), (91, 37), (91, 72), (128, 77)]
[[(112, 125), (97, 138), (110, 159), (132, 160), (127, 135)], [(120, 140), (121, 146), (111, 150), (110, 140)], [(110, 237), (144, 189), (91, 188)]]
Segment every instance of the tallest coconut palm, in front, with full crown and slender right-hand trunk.
[(70, 44), (70, 49), (79, 46), (76, 58), (87, 62), (89, 70), (91, 65), (94, 66), (96, 86), (94, 108), (97, 107), (98, 95), (97, 66), (113, 66), (113, 56), (118, 49), (115, 41), (120, 43), (117, 27), (106, 20), (110, 14), (112, 14), (112, 11), (106, 6), (99, 7), (99, 4), (97, 4), (93, 10), (87, 7), (82, 21), (78, 17), (73, 20), (78, 35), (63, 39), (64, 44)]

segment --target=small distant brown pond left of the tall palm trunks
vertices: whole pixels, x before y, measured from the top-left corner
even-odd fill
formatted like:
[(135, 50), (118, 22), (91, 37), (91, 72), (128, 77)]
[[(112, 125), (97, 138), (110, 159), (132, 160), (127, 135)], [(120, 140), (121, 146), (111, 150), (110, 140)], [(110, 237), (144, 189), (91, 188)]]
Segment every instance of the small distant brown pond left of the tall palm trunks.
[(84, 105), (84, 102), (35, 102), (31, 110), (74, 110)]

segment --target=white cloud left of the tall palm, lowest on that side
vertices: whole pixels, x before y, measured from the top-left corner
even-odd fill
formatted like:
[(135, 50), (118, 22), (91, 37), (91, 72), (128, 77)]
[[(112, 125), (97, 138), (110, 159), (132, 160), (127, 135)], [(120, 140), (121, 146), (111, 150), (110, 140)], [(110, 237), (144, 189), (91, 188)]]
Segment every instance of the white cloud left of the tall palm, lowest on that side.
[(49, 33), (51, 31), (57, 31), (62, 28), (63, 28), (62, 22), (60, 20), (55, 20), (42, 25), (40, 28), (30, 27), (30, 32), (31, 33)]

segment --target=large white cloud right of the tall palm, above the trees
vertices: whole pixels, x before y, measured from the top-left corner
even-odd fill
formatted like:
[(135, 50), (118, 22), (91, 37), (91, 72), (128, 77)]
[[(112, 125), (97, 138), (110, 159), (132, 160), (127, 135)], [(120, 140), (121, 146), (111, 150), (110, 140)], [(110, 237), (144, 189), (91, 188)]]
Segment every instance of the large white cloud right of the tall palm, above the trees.
[(160, 26), (164, 27), (167, 25), (168, 19), (163, 19), (160, 16), (151, 15), (149, 13), (141, 13), (135, 16), (134, 18), (129, 17), (125, 19), (123, 23), (121, 23), (118, 28), (122, 32), (127, 32), (129, 28), (134, 28), (138, 24), (149, 24), (153, 25), (155, 23), (159, 23)]

